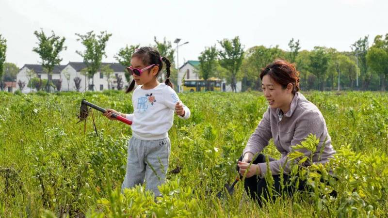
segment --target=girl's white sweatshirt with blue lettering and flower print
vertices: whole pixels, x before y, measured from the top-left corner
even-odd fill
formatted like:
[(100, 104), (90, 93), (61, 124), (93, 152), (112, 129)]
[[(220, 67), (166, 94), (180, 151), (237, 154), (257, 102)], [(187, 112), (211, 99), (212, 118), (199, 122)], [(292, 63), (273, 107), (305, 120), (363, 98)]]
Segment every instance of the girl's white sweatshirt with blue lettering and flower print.
[[(140, 140), (160, 140), (168, 137), (173, 125), (175, 105), (179, 101), (177, 93), (165, 83), (153, 89), (136, 87), (132, 95), (133, 113), (127, 114), (132, 121), (132, 135)], [(190, 117), (190, 109), (183, 105), (184, 117)]]

